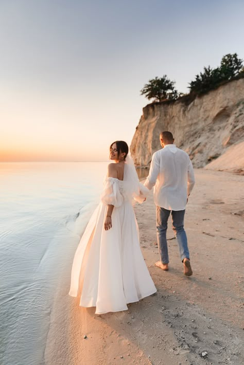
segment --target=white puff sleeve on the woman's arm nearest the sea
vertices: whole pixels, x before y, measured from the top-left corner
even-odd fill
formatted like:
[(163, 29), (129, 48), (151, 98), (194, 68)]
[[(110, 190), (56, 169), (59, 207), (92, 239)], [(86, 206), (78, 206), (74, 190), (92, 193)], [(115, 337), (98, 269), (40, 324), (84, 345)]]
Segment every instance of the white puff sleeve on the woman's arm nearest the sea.
[(104, 180), (101, 201), (105, 205), (113, 205), (114, 207), (119, 207), (123, 204), (124, 198), (119, 192), (118, 179), (114, 177), (107, 177)]

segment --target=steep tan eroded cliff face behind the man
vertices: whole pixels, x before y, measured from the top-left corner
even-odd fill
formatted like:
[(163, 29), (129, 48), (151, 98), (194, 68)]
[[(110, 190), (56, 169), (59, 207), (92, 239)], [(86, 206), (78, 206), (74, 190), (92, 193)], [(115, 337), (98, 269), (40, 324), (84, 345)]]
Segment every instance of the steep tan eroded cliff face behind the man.
[(161, 148), (159, 135), (170, 131), (195, 167), (203, 167), (232, 144), (244, 140), (244, 79), (229, 82), (189, 105), (154, 103), (143, 108), (130, 151), (135, 164), (149, 166)]

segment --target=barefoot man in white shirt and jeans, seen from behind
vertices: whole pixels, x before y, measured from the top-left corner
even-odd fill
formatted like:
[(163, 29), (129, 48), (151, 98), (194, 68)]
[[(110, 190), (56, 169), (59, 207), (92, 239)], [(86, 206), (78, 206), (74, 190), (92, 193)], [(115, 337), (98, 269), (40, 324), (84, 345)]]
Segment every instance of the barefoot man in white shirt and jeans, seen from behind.
[(186, 152), (173, 144), (172, 133), (160, 134), (162, 149), (152, 155), (149, 175), (145, 181), (148, 189), (154, 187), (156, 205), (156, 232), (161, 261), (155, 263), (168, 270), (168, 245), (166, 240), (168, 217), (172, 215), (172, 229), (180, 249), (184, 275), (191, 276), (190, 256), (184, 230), (185, 206), (195, 184), (193, 165)]

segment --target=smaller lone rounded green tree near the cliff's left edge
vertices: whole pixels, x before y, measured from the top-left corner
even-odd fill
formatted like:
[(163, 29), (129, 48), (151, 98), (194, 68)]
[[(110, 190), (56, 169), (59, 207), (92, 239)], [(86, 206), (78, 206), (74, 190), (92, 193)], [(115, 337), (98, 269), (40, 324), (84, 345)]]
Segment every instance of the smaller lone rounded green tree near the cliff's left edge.
[(153, 101), (175, 100), (178, 98), (178, 92), (175, 89), (175, 82), (170, 81), (166, 75), (161, 78), (149, 80), (141, 90), (141, 95)]

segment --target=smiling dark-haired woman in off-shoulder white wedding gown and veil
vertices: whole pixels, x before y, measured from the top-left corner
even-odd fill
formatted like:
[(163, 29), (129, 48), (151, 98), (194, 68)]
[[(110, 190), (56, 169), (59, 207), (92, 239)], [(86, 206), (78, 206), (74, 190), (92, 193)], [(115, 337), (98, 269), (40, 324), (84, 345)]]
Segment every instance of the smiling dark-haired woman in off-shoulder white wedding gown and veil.
[(138, 180), (128, 145), (110, 146), (108, 176), (75, 253), (69, 295), (81, 293), (80, 306), (96, 306), (96, 314), (125, 311), (127, 303), (155, 293), (145, 264), (132, 208), (148, 190)]

